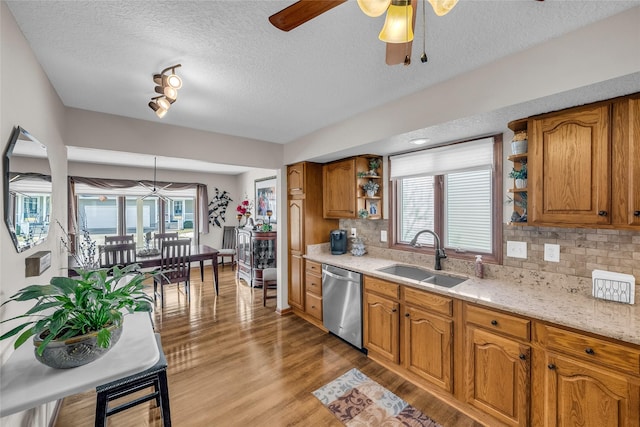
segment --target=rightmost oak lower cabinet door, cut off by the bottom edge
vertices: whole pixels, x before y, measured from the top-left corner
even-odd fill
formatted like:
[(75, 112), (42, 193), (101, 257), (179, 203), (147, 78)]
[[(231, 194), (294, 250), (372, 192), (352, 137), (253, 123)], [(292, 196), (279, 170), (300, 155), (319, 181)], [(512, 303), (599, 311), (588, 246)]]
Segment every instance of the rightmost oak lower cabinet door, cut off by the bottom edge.
[(571, 358), (547, 354), (548, 427), (638, 427), (638, 381)]

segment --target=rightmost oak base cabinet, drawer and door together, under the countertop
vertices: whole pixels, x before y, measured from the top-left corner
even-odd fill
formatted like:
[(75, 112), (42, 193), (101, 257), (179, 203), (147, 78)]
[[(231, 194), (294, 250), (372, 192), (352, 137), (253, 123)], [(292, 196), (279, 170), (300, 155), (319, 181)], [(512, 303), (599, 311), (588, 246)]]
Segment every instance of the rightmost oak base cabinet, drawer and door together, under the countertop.
[(536, 425), (640, 425), (638, 350), (542, 323), (536, 337), (545, 349), (536, 368)]

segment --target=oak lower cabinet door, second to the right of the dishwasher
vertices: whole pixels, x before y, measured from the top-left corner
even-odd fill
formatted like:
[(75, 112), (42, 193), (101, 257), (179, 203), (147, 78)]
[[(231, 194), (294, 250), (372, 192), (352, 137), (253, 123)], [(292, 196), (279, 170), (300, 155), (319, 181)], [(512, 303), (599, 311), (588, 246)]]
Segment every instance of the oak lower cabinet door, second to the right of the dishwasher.
[(403, 311), (404, 367), (451, 392), (453, 320), (408, 306)]

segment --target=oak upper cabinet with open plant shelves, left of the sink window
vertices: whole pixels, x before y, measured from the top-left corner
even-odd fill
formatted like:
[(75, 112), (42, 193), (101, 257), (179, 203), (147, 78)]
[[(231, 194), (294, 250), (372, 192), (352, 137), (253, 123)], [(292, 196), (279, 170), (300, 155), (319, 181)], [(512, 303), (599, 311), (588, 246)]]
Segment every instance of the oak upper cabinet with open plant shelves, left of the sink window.
[[(375, 170), (369, 168), (371, 159), (378, 160), (379, 166)], [(322, 173), (325, 218), (382, 218), (382, 157), (366, 155), (327, 163)], [(369, 181), (379, 186), (373, 195), (362, 188)], [(366, 212), (366, 216), (362, 212)]]

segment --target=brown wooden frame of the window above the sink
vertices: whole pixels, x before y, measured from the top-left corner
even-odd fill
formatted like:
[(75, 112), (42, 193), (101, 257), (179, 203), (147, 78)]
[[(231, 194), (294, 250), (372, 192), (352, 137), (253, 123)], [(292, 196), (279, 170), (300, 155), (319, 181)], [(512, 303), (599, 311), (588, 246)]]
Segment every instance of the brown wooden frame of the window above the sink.
[[(502, 256), (503, 256), (503, 247), (502, 247), (502, 217), (503, 217), (503, 207), (502, 207), (502, 192), (503, 192), (503, 179), (502, 179), (502, 153), (503, 153), (503, 142), (502, 142), (502, 134), (495, 134), (495, 135), (487, 135), (487, 136), (482, 136), (482, 137), (475, 137), (472, 139), (466, 139), (466, 140), (462, 140), (462, 141), (455, 141), (455, 142), (449, 142), (449, 143), (445, 143), (445, 144), (440, 144), (437, 146), (433, 146), (433, 147), (429, 147), (429, 148), (423, 148), (421, 150), (413, 150), (407, 153), (412, 153), (412, 152), (423, 152), (429, 149), (433, 149), (433, 148), (441, 148), (441, 147), (446, 147), (446, 146), (452, 146), (455, 144), (463, 144), (466, 142), (472, 142), (481, 138), (493, 138), (493, 169), (492, 169), (492, 176), (493, 176), (493, 186), (492, 186), (492, 203), (491, 203), (491, 210), (492, 210), (492, 223), (491, 226), (493, 228), (493, 237), (492, 237), (492, 248), (493, 251), (491, 253), (479, 253), (476, 251), (457, 251), (455, 248), (452, 247), (444, 247), (446, 253), (447, 253), (447, 258), (452, 258), (452, 259), (462, 259), (462, 260), (468, 260), (468, 261), (474, 261), (475, 260), (475, 256), (478, 254), (482, 255), (482, 260), (484, 262), (487, 263), (492, 263), (492, 264), (501, 264), (502, 263)], [(398, 153), (400, 154), (400, 153)], [(391, 170), (391, 160), (387, 160), (388, 164), (388, 168), (389, 170)], [(440, 209), (437, 209), (434, 212), (434, 224), (435, 224), (435, 232), (438, 234), (438, 236), (441, 237), (441, 239), (443, 240), (444, 243), (444, 200), (445, 200), (445, 194), (444, 194), (444, 175), (435, 175), (434, 176), (436, 179), (436, 184), (435, 184), (435, 191), (434, 191), (434, 205), (435, 206), (440, 206)], [(396, 209), (398, 208), (398, 182), (397, 181), (392, 181), (390, 180), (389, 182), (389, 231), (390, 231), (390, 244), (389, 247), (391, 249), (397, 249), (397, 250), (402, 250), (402, 251), (407, 251), (407, 252), (415, 252), (415, 253), (421, 253), (421, 254), (427, 254), (427, 255), (434, 255), (435, 254), (435, 248), (433, 245), (425, 245), (422, 247), (418, 247), (415, 248), (411, 245), (409, 245), (408, 243), (401, 243), (398, 242), (398, 220), (399, 220), (399, 215), (398, 212), (396, 211)]]

